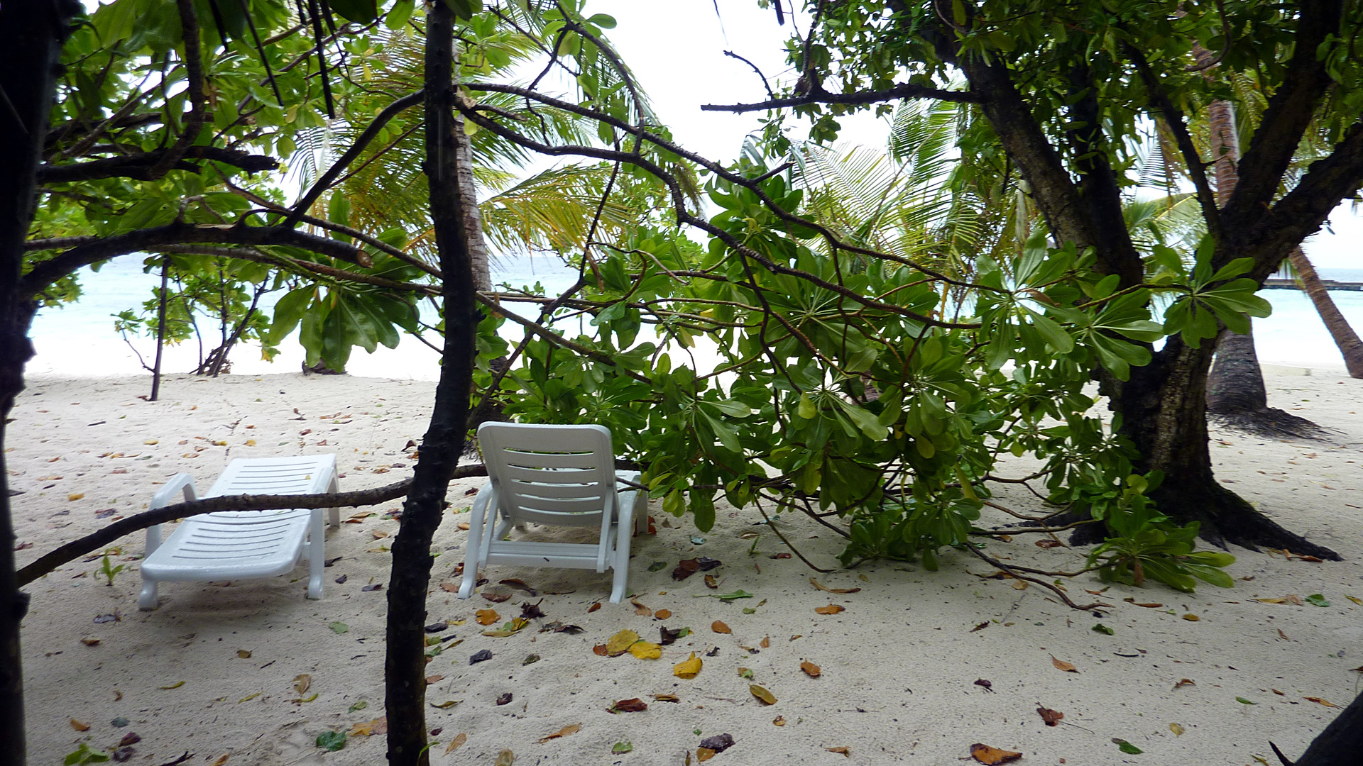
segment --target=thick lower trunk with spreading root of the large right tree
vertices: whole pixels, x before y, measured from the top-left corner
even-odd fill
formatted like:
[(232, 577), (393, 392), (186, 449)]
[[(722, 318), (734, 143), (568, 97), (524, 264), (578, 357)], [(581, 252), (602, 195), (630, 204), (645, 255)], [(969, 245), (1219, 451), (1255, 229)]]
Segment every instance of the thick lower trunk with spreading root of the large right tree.
[[(1160, 512), (1202, 525), (1204, 540), (1287, 548), (1293, 553), (1340, 560), (1338, 553), (1283, 529), (1235, 492), (1216, 482), (1206, 431), (1206, 380), (1213, 348), (1193, 349), (1171, 337), (1154, 361), (1131, 368), (1124, 383), (1104, 383), (1112, 409), (1122, 413), (1122, 433), (1141, 451), (1135, 469), (1160, 470), (1164, 482), (1150, 496)], [(1092, 534), (1092, 533), (1090, 533)], [(1081, 536), (1078, 542), (1090, 541)]]

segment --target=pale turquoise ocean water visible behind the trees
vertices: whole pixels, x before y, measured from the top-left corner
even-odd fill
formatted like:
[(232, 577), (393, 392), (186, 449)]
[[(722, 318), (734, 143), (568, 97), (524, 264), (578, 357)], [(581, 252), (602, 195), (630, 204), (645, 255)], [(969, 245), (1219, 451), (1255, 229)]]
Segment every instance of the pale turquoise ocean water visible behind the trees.
[[(1363, 282), (1363, 269), (1321, 269), (1321, 277), (1341, 282)], [(553, 292), (570, 285), (575, 274), (548, 258), (504, 258), (493, 270), (493, 282), (512, 286), (533, 285), (536, 281)], [(38, 313), (33, 323), (37, 356), (29, 361), (30, 375), (63, 375), (104, 378), (110, 375), (139, 375), (143, 368), (134, 348), (151, 364), (155, 343), (150, 338), (129, 338), (131, 346), (113, 330), (114, 313), (139, 308), (159, 284), (155, 274), (142, 271), (142, 259), (125, 256), (104, 266), (98, 274), (82, 273), (85, 294), (79, 303), (49, 308)], [(1325, 331), (1315, 308), (1299, 290), (1262, 290), (1273, 304), (1273, 315), (1255, 320), (1254, 337), (1259, 360), (1264, 363), (1299, 367), (1343, 367), (1334, 342)], [(1363, 292), (1332, 292), (1330, 296), (1356, 331), (1363, 334)], [(522, 309), (525, 312), (525, 309)], [(215, 343), (211, 322), (200, 326), (209, 333), (204, 353)], [(519, 337), (514, 328), (508, 337)], [(194, 341), (166, 350), (166, 372), (188, 372), (198, 364), (198, 343)], [(260, 358), (258, 348), (237, 348), (232, 353), (232, 372), (262, 375), (296, 372), (303, 363), (303, 349), (294, 339), (281, 346), (275, 361)], [(438, 354), (421, 342), (403, 337), (397, 349), (379, 346), (373, 354), (356, 349), (349, 372), (369, 378), (398, 378), (435, 380)]]

